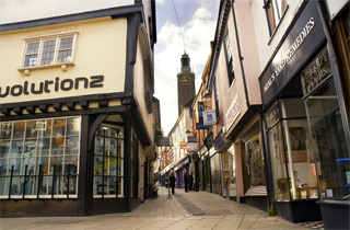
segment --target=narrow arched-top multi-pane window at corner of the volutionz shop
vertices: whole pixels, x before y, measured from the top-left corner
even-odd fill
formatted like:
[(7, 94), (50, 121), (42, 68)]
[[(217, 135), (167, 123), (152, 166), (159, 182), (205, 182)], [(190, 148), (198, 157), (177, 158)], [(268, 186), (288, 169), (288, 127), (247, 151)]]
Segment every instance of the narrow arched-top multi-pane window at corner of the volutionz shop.
[(124, 130), (103, 124), (95, 134), (94, 197), (124, 195)]

